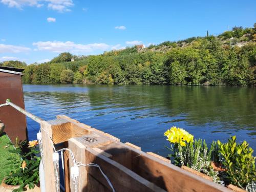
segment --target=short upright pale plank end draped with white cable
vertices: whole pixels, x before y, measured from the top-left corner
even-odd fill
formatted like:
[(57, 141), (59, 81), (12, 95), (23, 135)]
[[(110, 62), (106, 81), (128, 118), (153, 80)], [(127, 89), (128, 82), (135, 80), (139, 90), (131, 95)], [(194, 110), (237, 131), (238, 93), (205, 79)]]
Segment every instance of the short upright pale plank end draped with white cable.
[[(84, 153), (86, 146), (78, 142), (76, 139), (71, 138), (69, 139), (69, 149), (73, 152), (76, 163), (81, 162), (82, 164), (86, 164), (86, 154)], [(71, 155), (69, 159), (70, 159), (69, 167), (71, 169), (71, 167), (74, 166), (74, 163), (71, 160), (72, 159)], [(83, 188), (86, 185), (87, 185), (86, 167), (79, 166), (78, 191), (83, 191)], [(73, 184), (73, 181), (70, 181), (70, 188), (71, 188), (71, 191), (75, 191), (75, 186)]]

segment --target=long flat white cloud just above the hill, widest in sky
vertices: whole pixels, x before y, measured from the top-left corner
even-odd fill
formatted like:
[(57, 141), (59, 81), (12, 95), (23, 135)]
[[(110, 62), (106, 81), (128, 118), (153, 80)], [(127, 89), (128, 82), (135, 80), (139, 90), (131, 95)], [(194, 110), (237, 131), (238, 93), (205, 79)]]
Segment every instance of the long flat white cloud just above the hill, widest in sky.
[(66, 51), (72, 53), (90, 53), (98, 50), (107, 51), (115, 47), (104, 43), (75, 44), (73, 41), (38, 41), (34, 42), (33, 46), (36, 46), (38, 51), (50, 51), (56, 53)]

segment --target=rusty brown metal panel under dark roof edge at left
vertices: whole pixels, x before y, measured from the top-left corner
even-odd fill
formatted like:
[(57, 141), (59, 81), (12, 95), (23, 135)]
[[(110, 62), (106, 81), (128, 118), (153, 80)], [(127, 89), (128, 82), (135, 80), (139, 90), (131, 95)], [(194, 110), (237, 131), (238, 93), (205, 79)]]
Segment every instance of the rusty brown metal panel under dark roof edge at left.
[[(22, 77), (16, 74), (0, 72), (0, 104), (6, 99), (11, 99), (13, 103), (25, 109)], [(12, 106), (2, 106), (0, 108), (0, 120), (5, 123), (5, 132), (14, 143), (16, 137), (19, 140), (28, 139), (26, 116)]]

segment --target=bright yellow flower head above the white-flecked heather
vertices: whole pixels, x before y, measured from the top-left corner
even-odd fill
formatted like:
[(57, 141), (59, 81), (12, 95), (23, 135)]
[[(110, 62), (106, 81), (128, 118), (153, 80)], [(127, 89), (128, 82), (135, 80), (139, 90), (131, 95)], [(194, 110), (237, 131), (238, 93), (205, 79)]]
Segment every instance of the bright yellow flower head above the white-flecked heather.
[[(181, 146), (186, 146), (186, 142), (193, 142), (194, 136), (189, 134), (187, 131), (177, 128), (176, 126), (171, 127), (164, 133), (170, 143), (179, 143)], [(186, 141), (186, 142), (185, 142)]]

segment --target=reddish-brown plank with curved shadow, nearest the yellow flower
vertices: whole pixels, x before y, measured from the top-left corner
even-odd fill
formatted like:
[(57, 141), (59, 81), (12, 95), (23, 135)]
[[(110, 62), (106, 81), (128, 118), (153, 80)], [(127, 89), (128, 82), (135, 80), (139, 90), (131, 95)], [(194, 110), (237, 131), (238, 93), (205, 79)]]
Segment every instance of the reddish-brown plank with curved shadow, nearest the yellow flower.
[(229, 191), (226, 187), (191, 174), (147, 154), (134, 154), (133, 171), (167, 191), (215, 192)]

